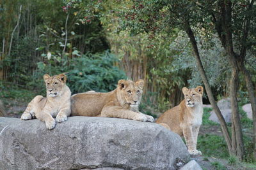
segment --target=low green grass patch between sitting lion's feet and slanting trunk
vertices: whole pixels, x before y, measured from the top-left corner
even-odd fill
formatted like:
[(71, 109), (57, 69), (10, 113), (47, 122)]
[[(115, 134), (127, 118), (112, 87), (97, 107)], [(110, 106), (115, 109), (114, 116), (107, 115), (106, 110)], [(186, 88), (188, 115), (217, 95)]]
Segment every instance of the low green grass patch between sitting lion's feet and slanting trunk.
[(204, 156), (228, 158), (227, 145), (222, 136), (204, 134), (198, 136), (197, 148)]

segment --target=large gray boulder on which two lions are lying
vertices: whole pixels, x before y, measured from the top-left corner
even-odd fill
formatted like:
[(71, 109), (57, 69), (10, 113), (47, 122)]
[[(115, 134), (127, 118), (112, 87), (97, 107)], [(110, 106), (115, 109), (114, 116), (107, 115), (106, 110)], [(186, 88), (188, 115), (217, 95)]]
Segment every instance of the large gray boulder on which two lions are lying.
[(161, 125), (69, 117), (49, 131), (39, 120), (0, 118), (0, 169), (176, 169), (182, 139)]

